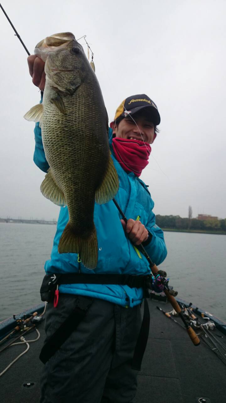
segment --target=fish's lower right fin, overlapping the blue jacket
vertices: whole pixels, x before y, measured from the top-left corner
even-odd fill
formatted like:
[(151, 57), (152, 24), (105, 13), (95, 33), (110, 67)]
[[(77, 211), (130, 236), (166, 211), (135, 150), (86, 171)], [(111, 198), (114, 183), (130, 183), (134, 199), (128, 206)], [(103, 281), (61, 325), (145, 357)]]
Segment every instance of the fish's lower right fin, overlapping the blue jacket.
[(104, 204), (109, 202), (115, 197), (119, 190), (119, 179), (117, 171), (114, 167), (111, 154), (109, 153), (109, 162), (105, 177), (101, 183), (101, 186), (96, 190), (95, 199), (98, 204)]

